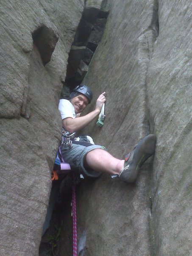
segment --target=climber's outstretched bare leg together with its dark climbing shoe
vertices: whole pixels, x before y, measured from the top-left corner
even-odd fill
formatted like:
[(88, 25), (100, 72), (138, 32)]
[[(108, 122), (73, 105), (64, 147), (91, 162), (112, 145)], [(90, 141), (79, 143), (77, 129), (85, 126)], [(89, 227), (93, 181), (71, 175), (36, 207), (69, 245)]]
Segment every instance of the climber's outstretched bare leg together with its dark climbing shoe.
[(114, 158), (102, 149), (95, 149), (87, 153), (85, 165), (95, 171), (118, 175), (126, 183), (133, 183), (142, 164), (155, 152), (155, 146), (156, 136), (149, 134), (125, 156), (125, 161)]

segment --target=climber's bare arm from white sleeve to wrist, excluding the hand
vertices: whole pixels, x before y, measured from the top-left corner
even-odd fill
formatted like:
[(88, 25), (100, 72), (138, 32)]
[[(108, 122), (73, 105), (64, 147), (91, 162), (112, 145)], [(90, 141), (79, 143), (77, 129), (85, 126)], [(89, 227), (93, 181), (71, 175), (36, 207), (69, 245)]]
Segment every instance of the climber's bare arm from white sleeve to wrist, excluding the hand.
[(95, 117), (97, 117), (100, 113), (99, 109), (95, 109), (94, 111), (86, 114), (83, 117), (78, 118), (65, 118), (62, 120), (63, 127), (69, 132), (75, 132), (83, 129), (86, 125), (89, 124)]

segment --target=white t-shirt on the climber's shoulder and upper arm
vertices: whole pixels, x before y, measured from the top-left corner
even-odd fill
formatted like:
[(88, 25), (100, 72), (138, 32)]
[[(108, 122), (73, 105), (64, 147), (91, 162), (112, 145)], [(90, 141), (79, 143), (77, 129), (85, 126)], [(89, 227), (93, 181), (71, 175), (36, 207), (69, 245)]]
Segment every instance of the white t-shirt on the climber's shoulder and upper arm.
[(69, 100), (61, 99), (58, 104), (58, 110), (61, 113), (61, 119), (67, 117), (75, 118), (75, 109), (74, 106), (70, 103)]

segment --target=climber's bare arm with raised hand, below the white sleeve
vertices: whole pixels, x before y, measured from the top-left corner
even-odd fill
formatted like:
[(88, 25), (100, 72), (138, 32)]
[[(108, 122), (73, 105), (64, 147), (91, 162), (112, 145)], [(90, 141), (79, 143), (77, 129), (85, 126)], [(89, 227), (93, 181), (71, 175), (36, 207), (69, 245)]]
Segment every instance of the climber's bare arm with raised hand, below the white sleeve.
[(69, 132), (75, 132), (81, 130), (86, 125), (89, 124), (95, 117), (97, 117), (101, 111), (103, 103), (106, 101), (106, 97), (104, 96), (105, 92), (103, 92), (97, 99), (95, 110), (86, 114), (83, 117), (71, 118), (67, 117), (62, 120), (63, 127)]

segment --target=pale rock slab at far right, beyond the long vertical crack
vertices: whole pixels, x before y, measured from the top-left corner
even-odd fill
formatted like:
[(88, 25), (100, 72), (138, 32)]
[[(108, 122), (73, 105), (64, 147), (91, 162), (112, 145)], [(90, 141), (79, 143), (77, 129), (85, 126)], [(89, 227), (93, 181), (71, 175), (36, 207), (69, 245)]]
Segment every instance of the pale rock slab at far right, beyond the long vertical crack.
[(159, 36), (147, 72), (153, 163), (153, 229), (157, 255), (191, 255), (192, 120), (190, 1), (159, 2)]

